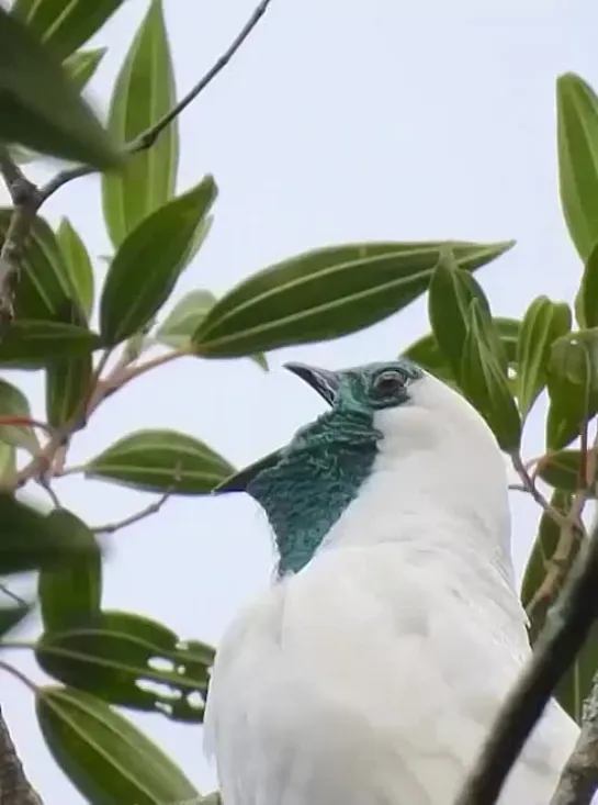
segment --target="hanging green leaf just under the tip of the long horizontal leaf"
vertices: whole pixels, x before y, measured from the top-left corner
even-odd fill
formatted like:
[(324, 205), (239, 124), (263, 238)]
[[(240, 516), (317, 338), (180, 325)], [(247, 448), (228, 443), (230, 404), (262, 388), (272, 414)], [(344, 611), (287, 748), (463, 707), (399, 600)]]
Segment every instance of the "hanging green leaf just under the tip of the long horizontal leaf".
[(450, 251), (441, 254), (430, 279), (428, 313), (436, 343), (458, 381), (473, 299), (478, 300), (481, 309), (489, 316), (488, 300), (477, 281), (459, 268)]

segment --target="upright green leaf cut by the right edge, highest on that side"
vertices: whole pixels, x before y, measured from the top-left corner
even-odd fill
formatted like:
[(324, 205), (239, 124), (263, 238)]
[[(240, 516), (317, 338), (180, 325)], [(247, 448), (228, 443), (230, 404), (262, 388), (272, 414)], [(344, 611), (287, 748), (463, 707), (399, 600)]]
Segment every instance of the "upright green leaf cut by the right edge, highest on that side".
[(561, 204), (586, 262), (598, 239), (598, 98), (567, 72), (556, 81), (556, 114)]

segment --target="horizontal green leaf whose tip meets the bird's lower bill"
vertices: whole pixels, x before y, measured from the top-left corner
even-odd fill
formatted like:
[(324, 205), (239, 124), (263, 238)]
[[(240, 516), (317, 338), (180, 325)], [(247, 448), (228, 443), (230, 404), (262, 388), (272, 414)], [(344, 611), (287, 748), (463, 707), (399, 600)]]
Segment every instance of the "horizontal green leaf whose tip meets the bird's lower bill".
[(177, 431), (137, 431), (86, 468), (100, 478), (148, 492), (207, 494), (234, 467), (203, 441)]

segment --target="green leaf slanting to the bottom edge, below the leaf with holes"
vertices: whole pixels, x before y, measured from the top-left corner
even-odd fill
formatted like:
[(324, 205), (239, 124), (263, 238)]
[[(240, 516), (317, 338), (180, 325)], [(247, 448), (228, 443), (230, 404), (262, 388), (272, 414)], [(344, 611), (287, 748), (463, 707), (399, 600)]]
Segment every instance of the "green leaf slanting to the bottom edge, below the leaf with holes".
[(155, 743), (94, 696), (38, 687), (36, 713), (54, 759), (93, 805), (163, 805), (199, 797)]

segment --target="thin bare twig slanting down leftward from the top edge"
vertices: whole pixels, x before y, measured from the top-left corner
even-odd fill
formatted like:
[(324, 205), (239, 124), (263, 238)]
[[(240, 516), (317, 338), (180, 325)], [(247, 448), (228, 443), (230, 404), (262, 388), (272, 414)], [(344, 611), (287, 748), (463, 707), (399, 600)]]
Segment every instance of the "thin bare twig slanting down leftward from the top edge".
[[(142, 150), (150, 148), (156, 139), (160, 136), (163, 130), (169, 126), (173, 120), (176, 120), (181, 112), (183, 112), (195, 98), (203, 92), (203, 90), (212, 83), (214, 78), (221, 72), (226, 65), (230, 62), (233, 56), (237, 53), (242, 43), (247, 40), (251, 31), (256, 27), (260, 19), (266, 13), (271, 0), (261, 0), (260, 4), (256, 8), (249, 20), (245, 23), (242, 30), (230, 43), (228, 48), (222, 54), (222, 56), (212, 65), (207, 72), (202, 76), (198, 83), (182, 98), (171, 110), (169, 110), (160, 120), (150, 126), (147, 131), (142, 132), (135, 139), (127, 143), (124, 147), (124, 153), (127, 155), (138, 154)], [(72, 181), (74, 179), (80, 179), (83, 176), (89, 176), (95, 172), (94, 168), (87, 165), (78, 165), (75, 168), (63, 170), (57, 174), (53, 179), (48, 181), (41, 189), (42, 201), (46, 201), (49, 197), (59, 190), (61, 187)]]

